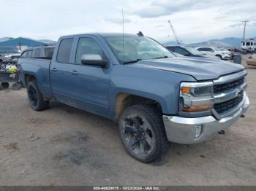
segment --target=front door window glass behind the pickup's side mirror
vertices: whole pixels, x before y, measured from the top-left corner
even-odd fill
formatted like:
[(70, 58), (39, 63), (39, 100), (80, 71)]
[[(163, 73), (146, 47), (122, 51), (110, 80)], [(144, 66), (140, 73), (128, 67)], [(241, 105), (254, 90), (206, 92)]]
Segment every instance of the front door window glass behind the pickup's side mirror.
[(82, 55), (96, 54), (105, 59), (105, 54), (99, 44), (91, 38), (80, 38), (78, 42), (78, 49), (75, 55), (75, 63), (81, 64)]

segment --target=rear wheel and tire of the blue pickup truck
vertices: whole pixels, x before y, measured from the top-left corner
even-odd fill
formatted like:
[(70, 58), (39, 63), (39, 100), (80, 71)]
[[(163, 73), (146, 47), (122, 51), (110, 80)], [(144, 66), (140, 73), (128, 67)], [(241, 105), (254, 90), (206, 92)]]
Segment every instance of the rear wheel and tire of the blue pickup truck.
[(27, 94), (29, 98), (29, 104), (34, 111), (42, 111), (48, 108), (49, 101), (44, 101), (42, 93), (37, 87), (36, 81), (31, 81), (27, 85)]

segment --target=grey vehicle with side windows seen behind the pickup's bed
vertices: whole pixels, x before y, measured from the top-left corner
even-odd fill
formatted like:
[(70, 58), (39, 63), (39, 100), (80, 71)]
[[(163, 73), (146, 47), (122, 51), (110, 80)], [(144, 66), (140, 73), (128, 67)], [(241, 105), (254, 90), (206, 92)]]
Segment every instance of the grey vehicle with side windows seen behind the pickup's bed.
[(54, 46), (39, 46), (30, 47), (24, 50), (21, 54), (21, 58), (40, 58), (51, 59), (53, 57)]

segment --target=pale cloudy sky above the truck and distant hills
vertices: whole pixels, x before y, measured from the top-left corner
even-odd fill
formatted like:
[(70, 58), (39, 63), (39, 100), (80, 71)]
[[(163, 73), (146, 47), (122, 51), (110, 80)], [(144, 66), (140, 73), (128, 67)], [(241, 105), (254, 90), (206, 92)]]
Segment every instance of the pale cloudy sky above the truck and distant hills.
[(174, 41), (170, 20), (184, 43), (256, 36), (256, 0), (0, 0), (0, 37), (58, 40), (68, 34), (142, 31)]

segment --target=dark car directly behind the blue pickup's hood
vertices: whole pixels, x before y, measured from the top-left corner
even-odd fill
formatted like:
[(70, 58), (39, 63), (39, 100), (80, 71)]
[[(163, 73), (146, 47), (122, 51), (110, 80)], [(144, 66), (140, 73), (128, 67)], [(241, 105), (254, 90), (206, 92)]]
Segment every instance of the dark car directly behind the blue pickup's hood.
[(176, 52), (178, 54), (184, 55), (184, 56), (192, 56), (192, 57), (202, 57), (202, 58), (213, 58), (218, 59), (219, 57), (214, 55), (206, 55), (203, 52), (200, 52), (196, 50), (193, 47), (183, 47), (183, 46), (167, 46), (167, 50), (170, 50), (171, 52)]

